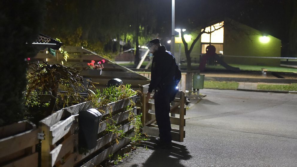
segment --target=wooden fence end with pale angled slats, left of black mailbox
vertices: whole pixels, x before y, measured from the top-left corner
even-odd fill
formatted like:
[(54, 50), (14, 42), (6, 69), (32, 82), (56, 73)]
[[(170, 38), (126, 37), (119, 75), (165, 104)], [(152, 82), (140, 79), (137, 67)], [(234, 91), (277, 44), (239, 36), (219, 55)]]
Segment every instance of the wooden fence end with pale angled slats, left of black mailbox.
[[(79, 111), (90, 107), (91, 102), (84, 102), (63, 108), (39, 122), (41, 144), (41, 166), (74, 165), (74, 130)], [(42, 138), (41, 137), (41, 138)], [(73, 158), (72, 158), (73, 157)]]

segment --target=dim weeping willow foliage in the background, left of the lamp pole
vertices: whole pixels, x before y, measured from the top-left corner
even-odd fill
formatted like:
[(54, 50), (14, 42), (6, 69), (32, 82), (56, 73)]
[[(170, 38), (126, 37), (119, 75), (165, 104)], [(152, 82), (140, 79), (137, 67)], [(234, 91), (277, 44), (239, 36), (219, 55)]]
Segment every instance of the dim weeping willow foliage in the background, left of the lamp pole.
[(120, 51), (119, 42), (123, 41), (135, 48), (137, 63), (138, 45), (162, 32), (170, 34), (164, 28), (164, 17), (168, 15), (164, 5), (171, 7), (158, 0), (52, 0), (47, 5), (44, 32), (65, 45), (83, 46), (102, 56), (104, 52)]

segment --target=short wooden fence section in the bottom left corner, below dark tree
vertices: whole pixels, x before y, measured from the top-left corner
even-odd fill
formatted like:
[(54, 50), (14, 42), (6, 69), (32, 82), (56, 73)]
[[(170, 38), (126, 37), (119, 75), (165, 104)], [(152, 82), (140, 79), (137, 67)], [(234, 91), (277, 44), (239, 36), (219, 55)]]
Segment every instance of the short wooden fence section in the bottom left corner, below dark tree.
[(36, 125), (28, 121), (0, 127), (0, 166), (38, 166), (37, 133)]

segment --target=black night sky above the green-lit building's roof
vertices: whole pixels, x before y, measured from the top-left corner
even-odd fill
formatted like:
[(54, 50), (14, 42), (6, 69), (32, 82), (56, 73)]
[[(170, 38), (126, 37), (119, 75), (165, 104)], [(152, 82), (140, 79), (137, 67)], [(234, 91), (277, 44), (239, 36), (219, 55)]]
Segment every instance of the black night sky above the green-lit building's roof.
[[(167, 2), (167, 3), (166, 3)], [(164, 10), (171, 24), (171, 1)], [(170, 2), (170, 3), (169, 3)], [(290, 0), (175, 0), (175, 25), (187, 25), (189, 19), (228, 17), (288, 42), (293, 14)], [(187, 25), (189, 26), (189, 25)]]

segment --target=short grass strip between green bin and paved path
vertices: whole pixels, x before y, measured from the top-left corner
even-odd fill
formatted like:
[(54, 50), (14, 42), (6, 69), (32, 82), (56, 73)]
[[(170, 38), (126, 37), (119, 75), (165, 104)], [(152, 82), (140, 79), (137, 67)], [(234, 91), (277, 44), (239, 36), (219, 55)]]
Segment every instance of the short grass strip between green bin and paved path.
[(221, 81), (204, 81), (204, 88), (211, 89), (231, 89), (236, 90), (238, 88), (238, 82), (221, 82)]

